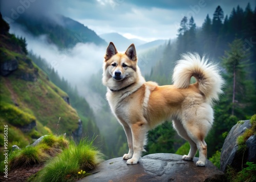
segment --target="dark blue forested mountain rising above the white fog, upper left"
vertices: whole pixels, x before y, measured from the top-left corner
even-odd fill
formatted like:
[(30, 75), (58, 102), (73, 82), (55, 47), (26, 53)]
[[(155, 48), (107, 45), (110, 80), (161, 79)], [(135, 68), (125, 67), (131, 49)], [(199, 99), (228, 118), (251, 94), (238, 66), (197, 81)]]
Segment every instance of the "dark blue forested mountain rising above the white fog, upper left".
[(78, 42), (107, 45), (94, 31), (62, 15), (53, 17), (20, 15), (15, 23), (22, 25), (35, 37), (47, 35), (47, 41), (59, 48), (72, 48)]

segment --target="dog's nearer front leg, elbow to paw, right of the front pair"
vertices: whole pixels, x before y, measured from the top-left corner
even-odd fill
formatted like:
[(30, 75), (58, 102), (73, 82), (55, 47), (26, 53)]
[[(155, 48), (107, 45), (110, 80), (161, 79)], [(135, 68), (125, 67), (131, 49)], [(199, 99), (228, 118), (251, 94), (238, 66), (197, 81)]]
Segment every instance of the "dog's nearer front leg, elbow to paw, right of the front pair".
[(133, 157), (127, 160), (126, 164), (137, 164), (141, 157), (141, 152), (144, 151), (144, 144), (146, 139), (146, 133), (148, 131), (148, 126), (145, 122), (136, 122), (131, 125), (132, 136), (133, 136)]

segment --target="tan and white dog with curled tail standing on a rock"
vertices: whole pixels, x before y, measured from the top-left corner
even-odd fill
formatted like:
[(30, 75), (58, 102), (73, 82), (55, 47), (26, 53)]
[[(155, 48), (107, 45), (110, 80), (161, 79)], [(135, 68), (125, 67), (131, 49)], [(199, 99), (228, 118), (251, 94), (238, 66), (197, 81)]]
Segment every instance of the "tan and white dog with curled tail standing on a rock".
[[(174, 68), (173, 85), (158, 86), (146, 82), (138, 67), (134, 44), (119, 53), (110, 42), (103, 61), (102, 83), (107, 87), (106, 99), (124, 128), (128, 153), (126, 164), (137, 164), (144, 151), (150, 129), (173, 120), (178, 134), (190, 144), (182, 160), (193, 161), (197, 149), (197, 166), (205, 166), (207, 145), (204, 141), (214, 121), (212, 105), (222, 93), (224, 81), (217, 65), (205, 57), (188, 53), (182, 55)], [(197, 80), (190, 84), (191, 77)]]

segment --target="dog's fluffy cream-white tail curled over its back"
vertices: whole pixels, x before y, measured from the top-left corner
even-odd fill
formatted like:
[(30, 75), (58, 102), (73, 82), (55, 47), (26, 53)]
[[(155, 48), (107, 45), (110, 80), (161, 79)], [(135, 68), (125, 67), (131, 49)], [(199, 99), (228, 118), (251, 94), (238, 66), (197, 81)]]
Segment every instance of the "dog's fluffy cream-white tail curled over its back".
[(191, 76), (196, 77), (198, 89), (202, 92), (206, 100), (212, 103), (219, 100), (219, 94), (223, 91), (224, 80), (220, 75), (217, 65), (208, 63), (204, 56), (202, 59), (198, 54), (184, 54), (174, 68), (173, 83), (177, 88), (187, 88)]

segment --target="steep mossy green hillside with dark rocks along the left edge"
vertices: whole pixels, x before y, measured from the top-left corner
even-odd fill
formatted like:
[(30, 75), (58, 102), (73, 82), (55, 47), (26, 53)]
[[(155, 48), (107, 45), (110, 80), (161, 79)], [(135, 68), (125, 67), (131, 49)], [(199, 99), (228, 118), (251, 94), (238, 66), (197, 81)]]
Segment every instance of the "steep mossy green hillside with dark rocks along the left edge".
[[(9, 150), (48, 133), (71, 136), (81, 121), (69, 96), (27, 57), (26, 40), (9, 34), (0, 14), (0, 127), (8, 125)], [(59, 119), (60, 118), (60, 119)], [(0, 129), (0, 135), (4, 129)], [(0, 147), (4, 141), (0, 141)]]

